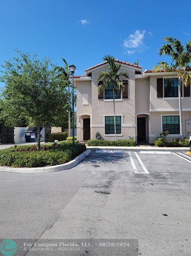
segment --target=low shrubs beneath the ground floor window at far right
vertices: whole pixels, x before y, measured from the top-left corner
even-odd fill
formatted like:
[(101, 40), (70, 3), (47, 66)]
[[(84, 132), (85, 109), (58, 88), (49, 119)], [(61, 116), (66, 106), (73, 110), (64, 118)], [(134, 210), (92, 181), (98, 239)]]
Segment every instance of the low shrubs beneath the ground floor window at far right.
[(171, 139), (170, 142), (167, 142), (163, 138), (158, 138), (154, 140), (154, 145), (156, 147), (189, 147), (189, 140), (184, 139), (184, 141), (181, 141), (177, 138)]

